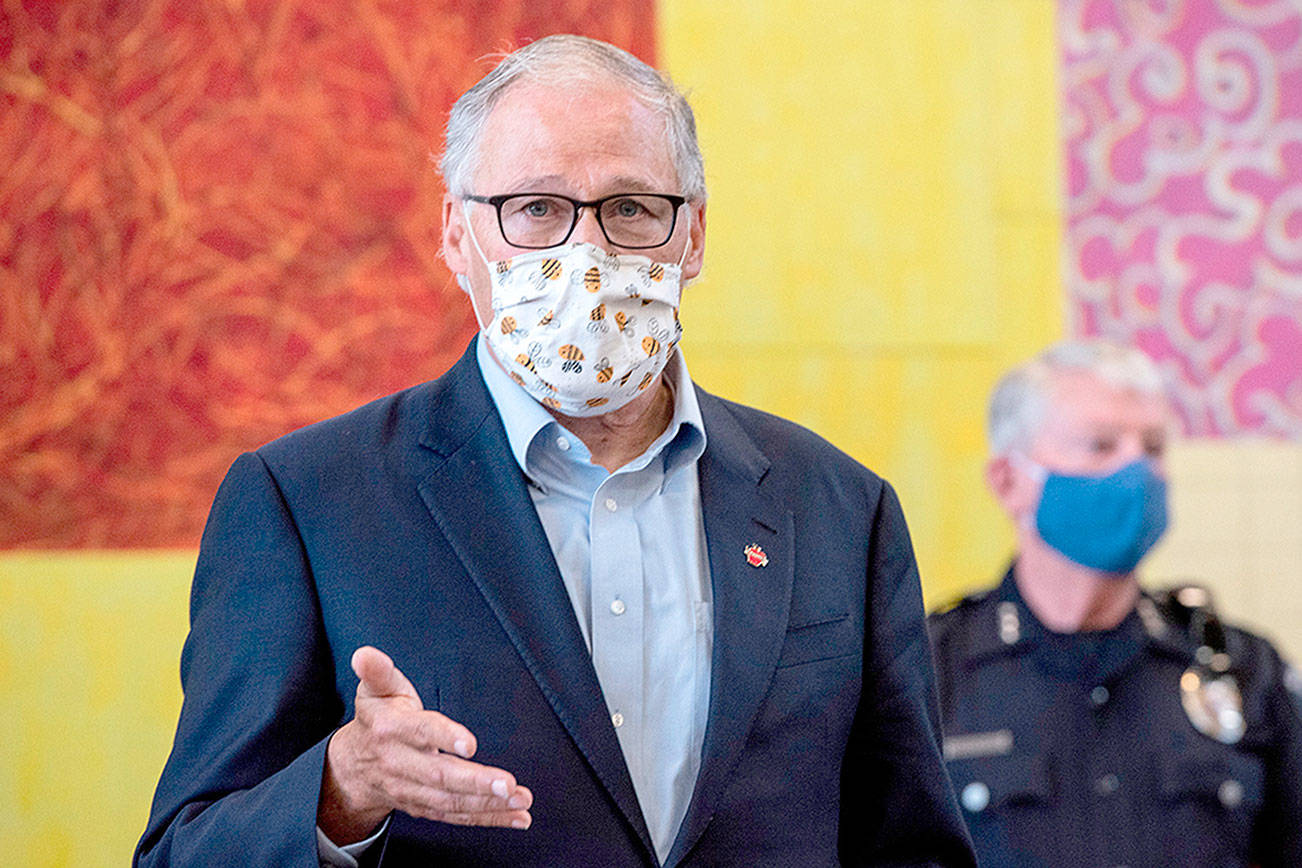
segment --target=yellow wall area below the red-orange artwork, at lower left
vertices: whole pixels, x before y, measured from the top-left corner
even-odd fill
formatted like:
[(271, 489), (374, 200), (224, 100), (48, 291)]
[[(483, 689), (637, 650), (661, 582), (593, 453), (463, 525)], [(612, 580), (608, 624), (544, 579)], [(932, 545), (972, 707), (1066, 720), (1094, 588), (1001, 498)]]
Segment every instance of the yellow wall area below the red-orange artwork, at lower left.
[(5, 863), (130, 863), (181, 709), (194, 560), (0, 556)]

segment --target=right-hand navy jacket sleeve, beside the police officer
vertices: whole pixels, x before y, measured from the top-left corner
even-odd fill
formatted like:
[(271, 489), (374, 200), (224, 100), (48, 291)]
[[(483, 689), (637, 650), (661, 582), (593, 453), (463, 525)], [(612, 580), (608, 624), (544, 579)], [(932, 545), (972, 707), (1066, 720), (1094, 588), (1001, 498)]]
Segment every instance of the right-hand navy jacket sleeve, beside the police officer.
[(940, 752), (936, 678), (913, 544), (885, 483), (868, 570), (863, 695), (841, 782), (841, 860), (975, 865)]

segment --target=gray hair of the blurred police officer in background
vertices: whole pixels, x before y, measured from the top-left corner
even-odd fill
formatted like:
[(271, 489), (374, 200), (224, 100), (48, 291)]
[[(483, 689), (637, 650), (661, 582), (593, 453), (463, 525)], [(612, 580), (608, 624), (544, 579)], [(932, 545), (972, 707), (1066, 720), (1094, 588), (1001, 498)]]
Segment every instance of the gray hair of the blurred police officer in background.
[(1118, 389), (1165, 396), (1161, 372), (1139, 350), (1104, 340), (1061, 341), (995, 385), (986, 418), (991, 454), (1030, 449), (1044, 424), (1053, 379), (1073, 371), (1091, 373)]

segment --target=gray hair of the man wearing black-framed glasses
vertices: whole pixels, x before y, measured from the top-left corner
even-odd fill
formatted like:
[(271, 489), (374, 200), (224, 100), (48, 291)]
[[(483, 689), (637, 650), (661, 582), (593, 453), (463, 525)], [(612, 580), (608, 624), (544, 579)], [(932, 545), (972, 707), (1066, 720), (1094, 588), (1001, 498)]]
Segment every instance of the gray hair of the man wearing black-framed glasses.
[(517, 48), (461, 95), (448, 116), (447, 143), (440, 161), (448, 193), (470, 193), (470, 176), (479, 156), (479, 138), (488, 115), (512, 85), (531, 79), (549, 85), (615, 79), (665, 120), (665, 135), (678, 173), (681, 194), (706, 198), (706, 168), (697, 143), (697, 120), (686, 98), (668, 75), (609, 43), (559, 34)]

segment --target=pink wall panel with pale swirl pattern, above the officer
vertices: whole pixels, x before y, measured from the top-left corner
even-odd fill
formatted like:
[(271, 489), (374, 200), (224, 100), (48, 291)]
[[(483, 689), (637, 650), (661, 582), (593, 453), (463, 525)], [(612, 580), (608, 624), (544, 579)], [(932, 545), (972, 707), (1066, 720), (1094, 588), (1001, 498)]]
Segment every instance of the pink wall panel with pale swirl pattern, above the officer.
[(1194, 436), (1302, 440), (1302, 0), (1061, 0), (1077, 334)]

